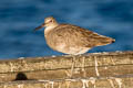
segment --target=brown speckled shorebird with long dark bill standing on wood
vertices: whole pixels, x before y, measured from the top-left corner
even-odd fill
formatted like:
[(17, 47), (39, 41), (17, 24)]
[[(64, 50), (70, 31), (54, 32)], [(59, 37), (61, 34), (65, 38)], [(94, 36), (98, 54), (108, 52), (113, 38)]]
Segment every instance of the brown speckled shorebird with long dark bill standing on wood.
[(44, 23), (34, 30), (42, 28), (45, 28), (47, 44), (54, 51), (70, 55), (84, 54), (93, 47), (115, 42), (112, 37), (100, 35), (81, 26), (59, 23), (53, 16), (45, 18)]

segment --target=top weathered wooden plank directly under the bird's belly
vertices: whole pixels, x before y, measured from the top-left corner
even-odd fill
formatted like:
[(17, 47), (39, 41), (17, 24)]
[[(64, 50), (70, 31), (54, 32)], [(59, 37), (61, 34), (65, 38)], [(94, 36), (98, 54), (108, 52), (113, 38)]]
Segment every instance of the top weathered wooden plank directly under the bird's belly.
[(133, 64), (133, 52), (94, 53), (78, 56), (32, 57), (0, 61), (0, 74), (12, 72), (31, 72), (44, 69), (71, 68), (75, 58), (75, 67)]

